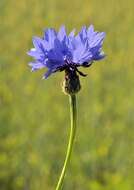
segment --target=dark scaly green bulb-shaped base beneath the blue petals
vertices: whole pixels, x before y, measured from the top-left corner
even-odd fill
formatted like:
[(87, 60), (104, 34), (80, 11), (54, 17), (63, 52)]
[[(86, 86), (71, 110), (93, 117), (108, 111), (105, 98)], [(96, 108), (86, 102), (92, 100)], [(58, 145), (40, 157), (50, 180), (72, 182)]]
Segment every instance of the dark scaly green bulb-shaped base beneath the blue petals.
[(70, 95), (76, 94), (80, 91), (80, 80), (75, 70), (65, 70), (65, 79), (63, 81), (62, 89), (65, 94)]

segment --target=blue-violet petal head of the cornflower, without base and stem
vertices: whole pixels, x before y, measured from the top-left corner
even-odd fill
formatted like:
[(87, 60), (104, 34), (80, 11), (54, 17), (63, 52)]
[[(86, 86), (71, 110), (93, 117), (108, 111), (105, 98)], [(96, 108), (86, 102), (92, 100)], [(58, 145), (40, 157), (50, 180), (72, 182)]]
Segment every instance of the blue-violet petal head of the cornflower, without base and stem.
[(48, 71), (43, 78), (63, 70), (85, 76), (78, 67), (89, 67), (94, 61), (105, 57), (102, 51), (104, 38), (105, 33), (94, 31), (93, 25), (89, 28), (82, 27), (77, 35), (75, 30), (67, 35), (64, 26), (58, 32), (48, 28), (42, 38), (33, 37), (34, 48), (28, 52), (28, 55), (32, 56), (34, 61), (29, 65), (32, 71), (46, 67)]

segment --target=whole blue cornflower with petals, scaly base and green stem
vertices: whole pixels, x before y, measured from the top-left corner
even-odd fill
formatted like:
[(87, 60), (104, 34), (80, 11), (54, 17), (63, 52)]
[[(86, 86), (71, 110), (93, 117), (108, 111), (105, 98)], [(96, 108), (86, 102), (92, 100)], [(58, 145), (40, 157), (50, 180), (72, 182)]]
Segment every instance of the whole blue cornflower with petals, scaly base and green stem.
[(105, 33), (94, 31), (93, 25), (89, 26), (89, 28), (86, 26), (82, 27), (77, 35), (75, 35), (75, 30), (67, 35), (64, 26), (58, 32), (49, 28), (44, 31), (42, 38), (33, 38), (34, 48), (28, 52), (28, 55), (34, 58), (34, 61), (29, 63), (32, 71), (44, 67), (48, 69), (43, 78), (48, 78), (57, 71), (65, 71), (63, 90), (69, 95), (70, 99), (71, 129), (66, 158), (56, 190), (62, 188), (76, 134), (76, 93), (81, 88), (79, 75), (86, 76), (79, 71), (78, 67), (90, 67), (94, 61), (105, 57), (102, 51), (104, 37)]

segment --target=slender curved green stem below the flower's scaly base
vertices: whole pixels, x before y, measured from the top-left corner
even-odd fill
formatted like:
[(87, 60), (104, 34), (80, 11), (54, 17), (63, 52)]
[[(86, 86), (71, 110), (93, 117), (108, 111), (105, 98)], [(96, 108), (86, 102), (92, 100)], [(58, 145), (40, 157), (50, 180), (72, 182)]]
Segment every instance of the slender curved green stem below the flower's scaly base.
[(76, 133), (76, 117), (77, 117), (76, 96), (70, 95), (69, 98), (70, 98), (70, 117), (71, 117), (70, 137), (69, 137), (69, 142), (68, 142), (68, 147), (67, 147), (66, 158), (64, 161), (64, 165), (62, 168), (61, 175), (59, 177), (59, 181), (58, 181), (56, 190), (62, 189), (62, 184), (63, 184), (63, 180), (65, 177), (67, 165), (70, 160), (70, 156), (71, 156), (71, 152), (72, 152), (72, 148), (73, 148), (73, 144), (74, 144), (74, 139), (75, 139), (75, 133)]

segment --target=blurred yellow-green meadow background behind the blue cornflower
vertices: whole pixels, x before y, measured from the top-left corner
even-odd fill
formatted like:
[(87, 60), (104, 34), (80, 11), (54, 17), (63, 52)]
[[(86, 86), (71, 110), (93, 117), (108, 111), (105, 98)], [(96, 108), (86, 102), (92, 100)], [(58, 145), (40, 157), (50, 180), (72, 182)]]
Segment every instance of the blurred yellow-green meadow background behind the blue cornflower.
[(69, 135), (64, 73), (41, 80), (26, 52), (43, 29), (95, 25), (107, 58), (81, 78), (64, 190), (134, 188), (134, 1), (0, 0), (0, 190), (53, 190)]

